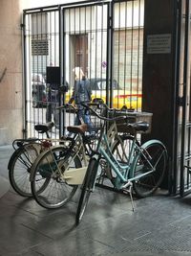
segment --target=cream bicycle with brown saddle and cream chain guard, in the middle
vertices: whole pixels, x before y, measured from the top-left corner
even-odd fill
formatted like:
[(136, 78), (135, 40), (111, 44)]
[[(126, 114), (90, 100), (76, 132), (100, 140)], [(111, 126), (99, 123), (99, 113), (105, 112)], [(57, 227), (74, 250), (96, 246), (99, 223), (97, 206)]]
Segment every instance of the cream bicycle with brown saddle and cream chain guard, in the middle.
[[(59, 108), (77, 111), (73, 105)], [(97, 133), (94, 137), (87, 135), (86, 124), (67, 129), (74, 136), (65, 138), (63, 145), (41, 153), (32, 165), (32, 195), (45, 208), (61, 207), (73, 198), (78, 185), (82, 184), (88, 161), (96, 148)], [(117, 145), (119, 143), (116, 140), (114, 151), (117, 151)]]

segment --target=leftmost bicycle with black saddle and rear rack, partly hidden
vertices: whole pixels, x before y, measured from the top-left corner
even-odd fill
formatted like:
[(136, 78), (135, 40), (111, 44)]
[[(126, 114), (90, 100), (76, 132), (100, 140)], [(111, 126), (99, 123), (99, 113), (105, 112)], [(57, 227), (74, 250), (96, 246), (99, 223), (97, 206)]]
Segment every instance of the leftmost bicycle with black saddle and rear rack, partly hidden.
[[(46, 134), (49, 139), (49, 131), (53, 128), (53, 122), (35, 125), (34, 129)], [(32, 197), (30, 174), (32, 163), (38, 154), (47, 149), (50, 142), (44, 139), (28, 138), (16, 139), (12, 142), (14, 149), (8, 164), (9, 178), (13, 190), (22, 197)]]

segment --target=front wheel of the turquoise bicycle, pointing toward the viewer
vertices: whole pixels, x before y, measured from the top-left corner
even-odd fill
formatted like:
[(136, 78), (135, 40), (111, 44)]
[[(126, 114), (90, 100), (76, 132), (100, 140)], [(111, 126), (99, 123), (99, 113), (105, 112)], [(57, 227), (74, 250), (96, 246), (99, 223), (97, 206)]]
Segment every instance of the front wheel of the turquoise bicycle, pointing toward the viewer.
[(90, 159), (90, 162), (86, 171), (86, 175), (84, 177), (84, 181), (81, 187), (81, 194), (78, 201), (77, 211), (75, 216), (76, 225), (78, 225), (79, 222), (82, 220), (86, 207), (88, 205), (90, 195), (94, 190), (97, 168), (98, 168), (98, 160), (95, 157), (92, 157)]

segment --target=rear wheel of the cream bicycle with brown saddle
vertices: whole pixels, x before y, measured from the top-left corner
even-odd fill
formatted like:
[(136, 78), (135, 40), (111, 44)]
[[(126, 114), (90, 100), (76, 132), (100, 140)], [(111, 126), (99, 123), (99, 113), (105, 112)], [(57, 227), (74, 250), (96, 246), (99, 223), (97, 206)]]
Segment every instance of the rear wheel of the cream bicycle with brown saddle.
[(78, 185), (63, 181), (57, 166), (62, 174), (66, 168), (80, 168), (81, 160), (74, 154), (69, 154), (65, 147), (57, 146), (36, 159), (32, 166), (31, 185), (33, 198), (39, 205), (48, 209), (59, 208), (73, 198)]

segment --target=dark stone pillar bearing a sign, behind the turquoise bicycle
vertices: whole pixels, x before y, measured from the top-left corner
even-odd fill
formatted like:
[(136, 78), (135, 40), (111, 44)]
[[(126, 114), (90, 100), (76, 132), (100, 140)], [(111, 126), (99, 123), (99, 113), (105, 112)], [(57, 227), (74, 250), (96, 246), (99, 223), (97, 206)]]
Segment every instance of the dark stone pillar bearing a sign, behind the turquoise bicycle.
[[(174, 0), (145, 0), (142, 107), (153, 112), (148, 138), (161, 140), (172, 159), (175, 86), (176, 3)], [(171, 163), (169, 162), (168, 171)], [(164, 178), (168, 187), (168, 174)]]

